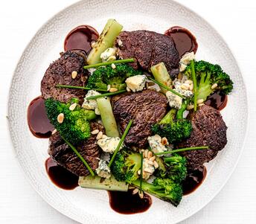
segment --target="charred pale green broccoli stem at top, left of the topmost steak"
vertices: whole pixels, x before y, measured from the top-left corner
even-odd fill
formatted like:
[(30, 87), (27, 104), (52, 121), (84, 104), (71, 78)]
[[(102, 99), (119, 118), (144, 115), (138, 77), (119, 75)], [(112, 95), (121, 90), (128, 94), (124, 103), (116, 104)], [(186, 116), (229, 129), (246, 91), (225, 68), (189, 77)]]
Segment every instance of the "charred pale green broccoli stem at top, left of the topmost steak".
[(95, 45), (90, 51), (87, 57), (87, 63), (89, 65), (97, 64), (101, 62), (100, 54), (107, 48), (111, 48), (114, 45), (115, 39), (121, 32), (123, 26), (120, 25), (115, 19), (109, 19), (106, 25), (100, 33), (99, 39), (95, 42)]

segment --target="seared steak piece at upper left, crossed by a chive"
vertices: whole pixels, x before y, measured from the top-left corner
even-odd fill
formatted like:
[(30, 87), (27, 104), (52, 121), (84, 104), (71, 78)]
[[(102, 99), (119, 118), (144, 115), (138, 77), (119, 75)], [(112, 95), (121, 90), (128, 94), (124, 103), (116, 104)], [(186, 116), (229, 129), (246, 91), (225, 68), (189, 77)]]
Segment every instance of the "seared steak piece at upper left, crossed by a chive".
[[(86, 57), (83, 51), (65, 51), (60, 54), (61, 57), (51, 63), (45, 71), (41, 81), (42, 97), (54, 97), (63, 103), (68, 102), (73, 97), (78, 97), (83, 101), (85, 91), (83, 89), (63, 89), (56, 88), (55, 85), (85, 86), (88, 74), (83, 69), (86, 63)], [(72, 71), (77, 71), (77, 77), (71, 77)]]

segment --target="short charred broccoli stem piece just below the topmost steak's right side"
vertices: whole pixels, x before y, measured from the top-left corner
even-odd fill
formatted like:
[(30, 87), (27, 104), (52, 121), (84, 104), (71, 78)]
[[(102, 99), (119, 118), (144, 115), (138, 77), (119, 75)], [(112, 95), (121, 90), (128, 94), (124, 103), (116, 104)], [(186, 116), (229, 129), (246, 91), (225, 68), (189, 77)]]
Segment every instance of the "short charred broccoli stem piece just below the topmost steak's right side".
[[(153, 65), (150, 68), (150, 70), (151, 70), (153, 76), (155, 77), (155, 79), (159, 83), (171, 88), (172, 80), (170, 79), (170, 74), (168, 73), (164, 63), (159, 63), (157, 65)], [(164, 87), (160, 87), (160, 89), (161, 89), (161, 92), (163, 92), (164, 94), (167, 92), (167, 90)]]

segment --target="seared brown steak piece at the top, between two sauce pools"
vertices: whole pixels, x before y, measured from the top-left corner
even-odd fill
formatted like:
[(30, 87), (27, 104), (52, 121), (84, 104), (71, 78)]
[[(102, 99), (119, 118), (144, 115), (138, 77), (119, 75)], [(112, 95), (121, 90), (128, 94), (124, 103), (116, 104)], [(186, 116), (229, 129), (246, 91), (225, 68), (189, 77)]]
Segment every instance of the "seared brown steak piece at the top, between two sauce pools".
[(135, 58), (131, 65), (150, 71), (152, 65), (164, 63), (171, 77), (179, 74), (179, 52), (170, 36), (153, 31), (123, 31), (115, 41), (118, 55)]

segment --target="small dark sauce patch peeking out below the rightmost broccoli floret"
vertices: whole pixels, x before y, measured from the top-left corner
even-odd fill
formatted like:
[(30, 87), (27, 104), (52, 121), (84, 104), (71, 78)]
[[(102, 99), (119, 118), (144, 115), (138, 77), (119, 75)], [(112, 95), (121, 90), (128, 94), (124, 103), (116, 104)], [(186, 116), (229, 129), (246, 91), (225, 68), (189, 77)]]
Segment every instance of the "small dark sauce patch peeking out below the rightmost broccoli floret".
[(208, 100), (205, 101), (205, 104), (208, 106), (212, 106), (217, 110), (222, 110), (228, 103), (228, 96), (222, 94), (221, 92), (215, 92)]

